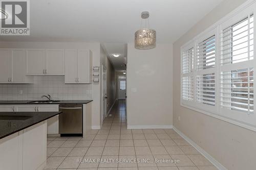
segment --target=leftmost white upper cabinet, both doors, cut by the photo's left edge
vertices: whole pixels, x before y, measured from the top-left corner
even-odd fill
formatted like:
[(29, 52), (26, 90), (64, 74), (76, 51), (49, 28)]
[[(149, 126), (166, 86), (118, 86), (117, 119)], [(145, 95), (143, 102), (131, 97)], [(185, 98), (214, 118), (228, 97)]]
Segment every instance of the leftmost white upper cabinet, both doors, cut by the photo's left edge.
[(33, 77), (26, 76), (25, 50), (0, 49), (0, 83), (29, 84)]

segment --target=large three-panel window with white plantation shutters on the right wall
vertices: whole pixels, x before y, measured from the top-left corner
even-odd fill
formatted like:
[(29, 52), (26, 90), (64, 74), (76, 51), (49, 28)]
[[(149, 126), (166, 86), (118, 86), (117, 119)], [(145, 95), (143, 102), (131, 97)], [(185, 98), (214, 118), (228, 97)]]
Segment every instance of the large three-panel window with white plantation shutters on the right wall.
[(254, 131), (255, 4), (181, 47), (181, 105)]

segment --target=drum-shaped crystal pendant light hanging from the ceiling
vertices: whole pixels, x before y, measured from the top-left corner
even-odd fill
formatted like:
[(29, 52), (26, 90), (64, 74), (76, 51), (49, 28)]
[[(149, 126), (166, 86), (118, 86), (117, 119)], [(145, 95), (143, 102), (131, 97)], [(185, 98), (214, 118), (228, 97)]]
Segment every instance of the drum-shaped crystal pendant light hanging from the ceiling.
[(148, 17), (150, 17), (148, 11), (141, 13), (141, 18), (145, 23), (145, 27), (135, 32), (135, 48), (139, 50), (147, 50), (156, 47), (156, 31), (148, 28)]

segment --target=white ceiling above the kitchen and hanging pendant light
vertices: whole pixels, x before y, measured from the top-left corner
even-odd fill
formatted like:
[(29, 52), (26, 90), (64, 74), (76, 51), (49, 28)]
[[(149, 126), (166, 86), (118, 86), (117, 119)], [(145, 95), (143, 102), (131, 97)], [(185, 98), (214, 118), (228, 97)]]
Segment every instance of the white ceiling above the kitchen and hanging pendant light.
[(2, 41), (87, 41), (127, 43), (150, 12), (158, 43), (172, 43), (222, 0), (32, 0), (30, 36)]

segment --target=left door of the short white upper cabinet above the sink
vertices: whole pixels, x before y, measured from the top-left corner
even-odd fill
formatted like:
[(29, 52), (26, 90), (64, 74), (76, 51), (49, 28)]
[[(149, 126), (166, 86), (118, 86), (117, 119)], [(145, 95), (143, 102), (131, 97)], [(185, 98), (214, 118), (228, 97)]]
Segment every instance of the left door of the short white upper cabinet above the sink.
[(45, 64), (46, 64), (45, 50), (42, 50), (42, 49), (26, 50), (27, 75), (44, 75)]

